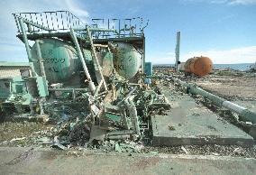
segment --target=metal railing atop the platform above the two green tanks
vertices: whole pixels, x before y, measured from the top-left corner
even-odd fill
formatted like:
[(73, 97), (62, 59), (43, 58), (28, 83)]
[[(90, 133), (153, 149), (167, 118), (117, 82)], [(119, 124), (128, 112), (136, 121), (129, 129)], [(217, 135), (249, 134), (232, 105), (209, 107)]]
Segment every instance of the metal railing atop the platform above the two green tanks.
[(87, 27), (94, 39), (141, 37), (144, 28), (141, 17), (130, 19), (92, 19), (92, 23), (83, 23), (69, 11), (17, 13), (13, 14), (18, 33), (55, 33), (69, 32), (73, 28), (78, 37), (87, 38)]

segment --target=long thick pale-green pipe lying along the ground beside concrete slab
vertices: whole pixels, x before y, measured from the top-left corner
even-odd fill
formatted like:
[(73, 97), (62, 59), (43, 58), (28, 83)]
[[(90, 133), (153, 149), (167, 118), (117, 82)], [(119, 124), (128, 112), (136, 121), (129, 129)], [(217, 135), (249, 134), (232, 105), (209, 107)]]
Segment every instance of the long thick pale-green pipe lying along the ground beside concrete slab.
[(227, 101), (222, 97), (215, 96), (214, 94), (211, 94), (202, 88), (198, 88), (197, 85), (193, 83), (186, 83), (184, 81), (181, 81), (178, 78), (173, 78), (173, 77), (171, 77), (171, 79), (174, 82), (178, 83), (181, 87), (187, 88), (188, 93), (206, 97), (207, 99), (211, 100), (216, 106), (223, 106), (224, 108), (229, 109), (234, 113), (240, 115), (242, 121), (251, 122), (251, 124), (256, 124), (255, 112), (252, 112), (251, 110), (243, 106), (234, 104), (233, 102)]

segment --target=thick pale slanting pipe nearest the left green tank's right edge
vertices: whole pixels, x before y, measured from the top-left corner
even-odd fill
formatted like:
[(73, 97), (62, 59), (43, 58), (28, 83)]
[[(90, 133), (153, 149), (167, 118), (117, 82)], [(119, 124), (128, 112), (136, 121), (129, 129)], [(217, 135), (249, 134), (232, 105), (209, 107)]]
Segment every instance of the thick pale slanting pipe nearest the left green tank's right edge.
[(88, 82), (89, 82), (89, 88), (90, 88), (91, 92), (94, 93), (95, 90), (96, 90), (96, 86), (95, 86), (94, 82), (92, 81), (92, 78), (91, 78), (91, 76), (89, 74), (89, 71), (87, 69), (86, 61), (84, 59), (83, 53), (80, 50), (80, 47), (79, 47), (79, 44), (78, 44), (78, 39), (77, 39), (76, 34), (75, 34), (75, 32), (74, 32), (74, 30), (72, 28), (70, 28), (70, 35), (72, 37), (72, 40), (75, 43), (76, 49), (78, 51), (78, 56), (79, 56), (79, 58), (80, 58), (80, 60), (82, 62), (83, 68), (85, 70), (85, 74), (86, 74)]

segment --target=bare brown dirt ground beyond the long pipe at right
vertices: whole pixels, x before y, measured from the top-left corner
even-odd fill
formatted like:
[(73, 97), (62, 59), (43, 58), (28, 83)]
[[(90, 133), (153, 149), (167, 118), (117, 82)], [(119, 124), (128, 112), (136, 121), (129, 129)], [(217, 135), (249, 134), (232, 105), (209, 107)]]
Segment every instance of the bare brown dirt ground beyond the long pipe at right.
[(256, 73), (216, 71), (203, 78), (183, 77), (183, 79), (256, 112)]

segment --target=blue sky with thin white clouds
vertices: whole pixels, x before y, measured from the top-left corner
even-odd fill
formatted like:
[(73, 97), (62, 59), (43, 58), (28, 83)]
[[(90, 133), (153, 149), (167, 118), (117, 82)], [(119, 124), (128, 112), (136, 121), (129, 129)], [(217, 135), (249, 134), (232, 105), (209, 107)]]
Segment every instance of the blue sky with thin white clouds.
[(214, 63), (256, 61), (256, 0), (1, 0), (0, 61), (27, 61), (15, 38), (12, 13), (69, 10), (79, 18), (149, 19), (146, 59), (173, 63), (176, 32), (180, 59), (208, 56)]

